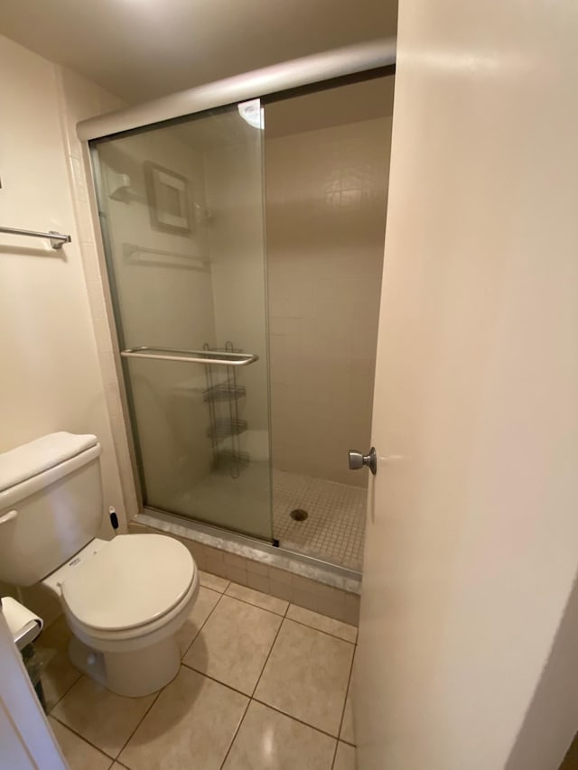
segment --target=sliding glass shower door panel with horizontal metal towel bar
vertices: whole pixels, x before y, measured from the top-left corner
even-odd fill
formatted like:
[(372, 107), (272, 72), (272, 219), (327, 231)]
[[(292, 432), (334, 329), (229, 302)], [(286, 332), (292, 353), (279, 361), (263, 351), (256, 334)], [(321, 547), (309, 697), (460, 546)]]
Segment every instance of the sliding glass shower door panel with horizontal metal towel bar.
[(144, 506), (271, 541), (259, 116), (256, 100), (91, 152)]

